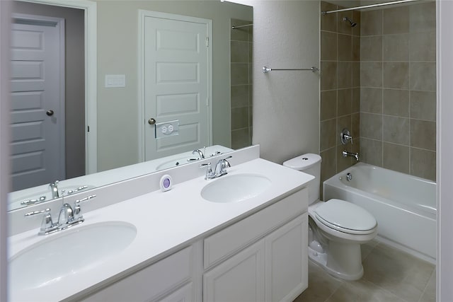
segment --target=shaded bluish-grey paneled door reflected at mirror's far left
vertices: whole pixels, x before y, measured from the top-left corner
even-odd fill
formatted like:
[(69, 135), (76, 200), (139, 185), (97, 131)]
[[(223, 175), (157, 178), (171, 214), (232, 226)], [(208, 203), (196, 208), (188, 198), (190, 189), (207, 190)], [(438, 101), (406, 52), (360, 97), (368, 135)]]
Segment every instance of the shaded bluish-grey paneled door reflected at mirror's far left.
[(12, 190), (64, 179), (64, 20), (11, 26)]

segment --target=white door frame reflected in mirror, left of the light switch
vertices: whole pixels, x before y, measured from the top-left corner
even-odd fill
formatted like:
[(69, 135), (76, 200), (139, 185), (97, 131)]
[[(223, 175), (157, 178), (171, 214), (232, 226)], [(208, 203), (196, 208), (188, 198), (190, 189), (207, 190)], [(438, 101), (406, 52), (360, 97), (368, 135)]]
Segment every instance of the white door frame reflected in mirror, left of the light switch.
[[(89, 0), (16, 0), (84, 10), (85, 174), (98, 172), (97, 4)], [(89, 129), (89, 130), (88, 130)]]

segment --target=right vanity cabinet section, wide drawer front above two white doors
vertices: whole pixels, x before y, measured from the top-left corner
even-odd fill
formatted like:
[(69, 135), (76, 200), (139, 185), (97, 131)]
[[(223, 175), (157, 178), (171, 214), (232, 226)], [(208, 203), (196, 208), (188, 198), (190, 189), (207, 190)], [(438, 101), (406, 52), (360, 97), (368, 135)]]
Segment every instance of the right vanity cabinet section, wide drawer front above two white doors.
[(206, 238), (203, 301), (292, 301), (302, 293), (308, 286), (306, 200), (306, 190), (296, 192)]

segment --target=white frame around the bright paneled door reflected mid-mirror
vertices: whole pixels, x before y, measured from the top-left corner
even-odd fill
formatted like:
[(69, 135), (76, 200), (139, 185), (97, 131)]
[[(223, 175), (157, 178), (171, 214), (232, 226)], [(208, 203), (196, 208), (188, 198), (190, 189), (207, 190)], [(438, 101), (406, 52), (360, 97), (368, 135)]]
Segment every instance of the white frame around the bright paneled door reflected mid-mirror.
[(207, 100), (208, 105), (208, 119), (207, 119), (207, 127), (208, 134), (207, 134), (207, 145), (212, 145), (212, 21), (209, 19), (203, 18), (196, 18), (190, 16), (183, 16), (178, 15), (175, 13), (161, 13), (159, 11), (146, 11), (143, 9), (139, 9), (139, 30), (138, 30), (138, 134), (139, 134), (139, 162), (144, 161), (145, 159), (145, 140), (144, 140), (144, 127), (146, 127), (146, 117), (144, 116), (144, 21), (146, 17), (154, 17), (154, 18), (167, 18), (171, 20), (179, 20), (179, 21), (188, 21), (188, 22), (196, 22), (202, 23), (207, 26), (207, 35), (209, 40), (207, 41), (209, 44), (207, 50), (208, 56), (208, 83), (207, 83)]

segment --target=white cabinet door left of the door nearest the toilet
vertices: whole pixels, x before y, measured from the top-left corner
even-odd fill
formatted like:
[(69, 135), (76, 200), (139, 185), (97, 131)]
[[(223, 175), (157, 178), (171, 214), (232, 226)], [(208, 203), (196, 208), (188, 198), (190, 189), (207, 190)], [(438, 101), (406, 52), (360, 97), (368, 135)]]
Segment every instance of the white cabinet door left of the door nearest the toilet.
[(203, 301), (264, 301), (264, 239), (203, 275)]

